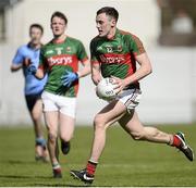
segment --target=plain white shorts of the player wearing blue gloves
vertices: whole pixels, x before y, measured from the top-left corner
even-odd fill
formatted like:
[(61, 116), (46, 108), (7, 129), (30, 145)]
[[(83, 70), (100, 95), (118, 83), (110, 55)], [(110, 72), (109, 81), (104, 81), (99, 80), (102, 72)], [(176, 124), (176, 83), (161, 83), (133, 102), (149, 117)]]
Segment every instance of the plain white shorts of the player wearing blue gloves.
[(41, 95), (44, 103), (44, 112), (59, 111), (62, 114), (75, 117), (76, 113), (76, 98), (69, 98), (64, 96), (53, 95), (44, 91)]

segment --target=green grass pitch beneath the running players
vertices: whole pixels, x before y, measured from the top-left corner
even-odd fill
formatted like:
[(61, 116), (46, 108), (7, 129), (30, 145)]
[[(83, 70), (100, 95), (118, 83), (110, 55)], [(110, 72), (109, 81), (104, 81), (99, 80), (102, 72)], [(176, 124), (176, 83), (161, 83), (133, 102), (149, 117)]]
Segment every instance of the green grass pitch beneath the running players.
[[(161, 130), (185, 133), (196, 151), (196, 125), (159, 126)], [(196, 162), (189, 162), (176, 149), (166, 145), (134, 141), (119, 126), (107, 133), (107, 146), (91, 186), (100, 187), (187, 187), (196, 186)], [(33, 128), (0, 128), (1, 187), (81, 187), (70, 170), (85, 167), (88, 159), (93, 127), (76, 127), (69, 155), (60, 155), (62, 179), (53, 179), (49, 163), (34, 160)]]

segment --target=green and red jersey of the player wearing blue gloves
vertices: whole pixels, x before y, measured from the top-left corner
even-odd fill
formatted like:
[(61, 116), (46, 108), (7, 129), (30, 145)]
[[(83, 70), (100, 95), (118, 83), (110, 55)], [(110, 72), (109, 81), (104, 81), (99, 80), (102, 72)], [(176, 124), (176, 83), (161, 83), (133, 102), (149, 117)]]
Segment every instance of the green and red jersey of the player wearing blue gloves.
[(48, 82), (45, 90), (54, 95), (76, 97), (78, 91), (78, 80), (70, 88), (61, 83), (61, 76), (65, 70), (78, 71), (78, 62), (88, 59), (83, 43), (71, 37), (66, 37), (62, 42), (51, 40), (40, 50), (39, 68), (48, 72)]

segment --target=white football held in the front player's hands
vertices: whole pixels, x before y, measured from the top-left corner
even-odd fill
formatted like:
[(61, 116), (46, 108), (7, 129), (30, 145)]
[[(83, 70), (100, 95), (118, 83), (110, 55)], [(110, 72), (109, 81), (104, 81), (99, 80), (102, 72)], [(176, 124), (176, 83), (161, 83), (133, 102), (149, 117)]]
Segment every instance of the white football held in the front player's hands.
[(114, 88), (117, 87), (114, 79), (111, 77), (102, 78), (97, 85), (97, 96), (105, 100), (111, 100), (117, 96)]

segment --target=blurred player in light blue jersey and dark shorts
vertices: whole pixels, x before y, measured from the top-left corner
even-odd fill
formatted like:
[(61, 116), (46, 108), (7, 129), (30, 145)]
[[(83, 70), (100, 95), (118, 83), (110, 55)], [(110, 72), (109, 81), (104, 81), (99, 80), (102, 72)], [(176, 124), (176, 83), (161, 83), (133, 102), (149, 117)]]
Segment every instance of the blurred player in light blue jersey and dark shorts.
[(42, 79), (37, 79), (27, 70), (27, 66), (29, 64), (34, 64), (36, 67), (39, 64), (39, 53), (41, 48), (40, 39), (42, 37), (42, 33), (44, 29), (41, 25), (30, 25), (30, 41), (27, 45), (24, 45), (17, 49), (15, 57), (12, 61), (11, 71), (15, 72), (21, 68), (23, 70), (25, 78), (24, 93), (35, 129), (35, 156), (36, 160), (48, 161), (48, 150), (41, 128), (42, 102), (40, 99), (47, 80), (47, 75)]

